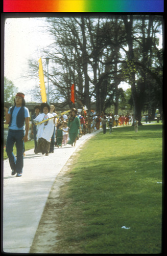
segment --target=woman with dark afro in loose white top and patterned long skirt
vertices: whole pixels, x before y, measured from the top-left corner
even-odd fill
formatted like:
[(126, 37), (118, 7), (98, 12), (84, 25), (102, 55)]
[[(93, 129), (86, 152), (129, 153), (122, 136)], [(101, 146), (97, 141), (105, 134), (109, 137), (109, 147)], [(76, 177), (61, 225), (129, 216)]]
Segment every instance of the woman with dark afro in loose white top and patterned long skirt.
[[(42, 113), (43, 112), (43, 113)], [(46, 156), (49, 155), (50, 151), (50, 145), (51, 145), (51, 138), (54, 132), (54, 123), (56, 116), (52, 115), (50, 112), (50, 105), (47, 103), (41, 104), (41, 113), (39, 114), (35, 119), (35, 123), (39, 123), (43, 120), (49, 119), (53, 117), (52, 119), (45, 121), (43, 123), (37, 124), (37, 141), (38, 146), (36, 153), (42, 153)]]

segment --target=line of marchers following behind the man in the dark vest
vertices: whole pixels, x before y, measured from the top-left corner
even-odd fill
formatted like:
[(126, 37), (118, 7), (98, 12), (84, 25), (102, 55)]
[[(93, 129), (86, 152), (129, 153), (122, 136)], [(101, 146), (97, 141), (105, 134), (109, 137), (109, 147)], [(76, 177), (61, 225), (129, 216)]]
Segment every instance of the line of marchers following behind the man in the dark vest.
[(83, 108), (78, 112), (75, 108), (62, 114), (56, 113), (54, 105), (42, 103), (34, 108), (32, 116), (32, 135), (34, 136), (34, 153), (42, 153), (46, 156), (54, 153), (55, 146), (62, 147), (70, 144), (76, 145), (76, 141), (82, 135), (91, 133), (103, 128), (106, 133), (107, 127), (110, 134), (112, 127), (117, 125), (128, 125), (132, 122), (133, 116), (113, 115), (94, 111), (87, 113)]

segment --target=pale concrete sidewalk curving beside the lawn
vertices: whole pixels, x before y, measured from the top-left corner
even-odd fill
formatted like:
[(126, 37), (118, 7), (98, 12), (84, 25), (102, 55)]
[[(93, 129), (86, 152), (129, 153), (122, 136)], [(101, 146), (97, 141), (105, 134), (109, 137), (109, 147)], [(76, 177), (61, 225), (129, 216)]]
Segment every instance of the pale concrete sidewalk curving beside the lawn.
[(77, 148), (101, 131), (82, 136), (75, 147), (55, 147), (49, 156), (35, 155), (34, 149), (26, 151), (22, 177), (11, 176), (9, 160), (4, 160), (4, 252), (29, 253), (57, 175)]

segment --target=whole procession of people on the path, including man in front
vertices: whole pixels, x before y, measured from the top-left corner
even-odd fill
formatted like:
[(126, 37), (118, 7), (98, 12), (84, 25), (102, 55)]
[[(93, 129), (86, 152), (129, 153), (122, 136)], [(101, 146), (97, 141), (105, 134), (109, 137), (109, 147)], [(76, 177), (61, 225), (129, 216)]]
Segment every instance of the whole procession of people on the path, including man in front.
[[(28, 141), (30, 114), (25, 106), (25, 95), (17, 93), (14, 106), (5, 108), (6, 123), (9, 124), (9, 133), (6, 143), (6, 152), (12, 169), (12, 175), (22, 175), (23, 154), (25, 142)], [(91, 133), (103, 128), (106, 133), (107, 127), (110, 134), (112, 127), (128, 125), (132, 123), (133, 116), (113, 115), (94, 111), (87, 113), (83, 108), (79, 112), (74, 108), (70, 111), (58, 114), (54, 105), (42, 103), (36, 105), (31, 117), (31, 134), (34, 138), (34, 153), (42, 153), (48, 156), (54, 153), (55, 147), (69, 144), (75, 146), (77, 140), (86, 133)], [(17, 157), (13, 154), (13, 146), (16, 144)]]

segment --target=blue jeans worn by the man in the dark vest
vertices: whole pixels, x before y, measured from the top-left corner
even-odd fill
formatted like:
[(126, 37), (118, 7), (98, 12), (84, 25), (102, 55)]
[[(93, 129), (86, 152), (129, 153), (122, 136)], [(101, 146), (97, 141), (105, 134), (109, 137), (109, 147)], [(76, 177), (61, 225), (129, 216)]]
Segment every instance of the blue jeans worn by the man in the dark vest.
[[(17, 174), (22, 173), (23, 168), (23, 137), (25, 136), (24, 130), (11, 130), (9, 129), (8, 138), (6, 142), (6, 152), (9, 157), (9, 164), (12, 170)], [(17, 158), (13, 154), (13, 146), (16, 142)]]

